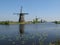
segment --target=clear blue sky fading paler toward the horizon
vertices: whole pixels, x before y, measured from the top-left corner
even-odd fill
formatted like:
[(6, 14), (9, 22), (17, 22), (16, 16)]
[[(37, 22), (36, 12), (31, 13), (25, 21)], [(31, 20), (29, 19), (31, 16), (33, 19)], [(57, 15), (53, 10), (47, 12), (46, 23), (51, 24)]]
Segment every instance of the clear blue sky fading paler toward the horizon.
[(60, 0), (0, 0), (0, 21), (18, 21), (20, 7), (26, 21), (33, 20), (36, 16), (46, 21), (60, 20)]

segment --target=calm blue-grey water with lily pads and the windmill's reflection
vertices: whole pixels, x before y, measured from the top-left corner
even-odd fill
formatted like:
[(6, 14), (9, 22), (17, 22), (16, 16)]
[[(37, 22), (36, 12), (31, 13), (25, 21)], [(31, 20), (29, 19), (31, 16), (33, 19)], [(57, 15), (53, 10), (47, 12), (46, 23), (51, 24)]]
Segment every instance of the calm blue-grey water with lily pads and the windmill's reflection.
[(0, 45), (49, 45), (60, 39), (60, 24), (0, 25)]

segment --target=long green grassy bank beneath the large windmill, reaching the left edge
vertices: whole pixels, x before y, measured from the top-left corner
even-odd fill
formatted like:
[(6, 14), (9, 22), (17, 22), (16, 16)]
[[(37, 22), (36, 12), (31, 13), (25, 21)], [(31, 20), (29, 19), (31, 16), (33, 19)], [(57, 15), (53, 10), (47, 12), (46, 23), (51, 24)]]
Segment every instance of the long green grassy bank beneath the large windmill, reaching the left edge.
[(29, 22), (13, 22), (13, 21), (1, 21), (0, 25), (9, 25), (9, 24), (36, 24), (41, 23), (40, 21), (29, 21)]

